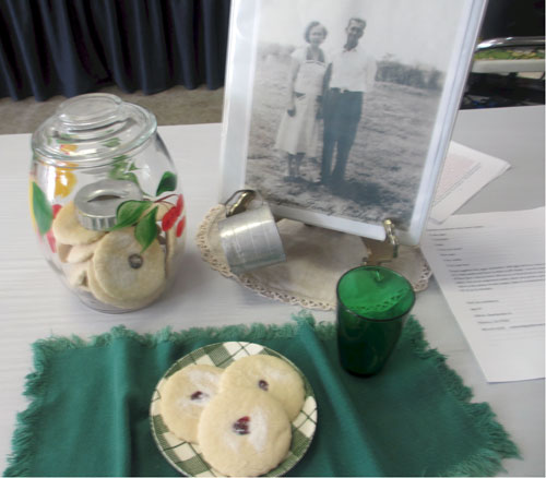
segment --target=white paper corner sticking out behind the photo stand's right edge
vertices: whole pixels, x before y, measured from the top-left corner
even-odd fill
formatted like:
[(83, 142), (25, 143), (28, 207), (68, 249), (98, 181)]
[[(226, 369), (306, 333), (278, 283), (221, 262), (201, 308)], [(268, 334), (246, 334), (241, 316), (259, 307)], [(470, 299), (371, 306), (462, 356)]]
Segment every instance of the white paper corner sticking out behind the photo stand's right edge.
[(509, 167), (510, 164), (506, 160), (452, 141), (438, 182), (430, 217), (437, 223), (444, 222)]

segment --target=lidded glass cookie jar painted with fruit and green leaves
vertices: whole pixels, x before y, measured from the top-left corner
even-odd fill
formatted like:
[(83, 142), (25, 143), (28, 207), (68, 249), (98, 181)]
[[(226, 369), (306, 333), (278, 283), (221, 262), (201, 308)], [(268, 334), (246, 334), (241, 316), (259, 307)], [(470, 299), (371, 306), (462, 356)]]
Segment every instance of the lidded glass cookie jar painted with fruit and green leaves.
[(154, 115), (115, 95), (76, 96), (32, 150), (32, 218), (64, 284), (103, 312), (157, 300), (183, 252), (186, 208)]

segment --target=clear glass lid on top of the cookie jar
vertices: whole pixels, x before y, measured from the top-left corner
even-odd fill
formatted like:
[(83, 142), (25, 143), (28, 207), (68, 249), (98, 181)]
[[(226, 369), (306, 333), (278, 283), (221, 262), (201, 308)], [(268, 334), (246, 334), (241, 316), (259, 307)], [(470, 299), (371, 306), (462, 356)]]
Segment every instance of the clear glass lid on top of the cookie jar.
[(156, 129), (155, 116), (145, 108), (90, 93), (62, 101), (34, 132), (32, 147), (46, 163), (96, 166), (141, 146)]

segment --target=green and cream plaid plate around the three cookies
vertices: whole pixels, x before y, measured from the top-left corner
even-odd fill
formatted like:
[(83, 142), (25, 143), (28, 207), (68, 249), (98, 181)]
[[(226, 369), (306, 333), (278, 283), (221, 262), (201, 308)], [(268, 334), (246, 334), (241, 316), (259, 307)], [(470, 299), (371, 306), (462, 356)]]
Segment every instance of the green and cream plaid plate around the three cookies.
[(158, 390), (173, 373), (191, 363), (210, 365), (225, 369), (229, 363), (248, 355), (265, 354), (278, 357), (288, 362), (301, 375), (306, 387), (306, 398), (299, 415), (292, 422), (292, 444), (288, 454), (281, 464), (264, 476), (282, 476), (286, 474), (307, 452), (317, 428), (317, 401), (306, 377), (286, 357), (259, 344), (249, 342), (223, 342), (198, 348), (177, 360), (157, 383), (150, 406), (152, 434), (163, 456), (179, 473), (186, 476), (223, 476), (204, 461), (198, 444), (176, 438), (165, 425), (159, 411), (162, 401)]

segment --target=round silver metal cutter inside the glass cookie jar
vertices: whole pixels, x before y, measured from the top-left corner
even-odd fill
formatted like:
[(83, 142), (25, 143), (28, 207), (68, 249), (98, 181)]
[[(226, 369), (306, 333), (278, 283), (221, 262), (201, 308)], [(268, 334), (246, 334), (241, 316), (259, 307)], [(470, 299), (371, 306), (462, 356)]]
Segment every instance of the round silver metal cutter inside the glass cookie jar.
[(116, 212), (126, 201), (141, 201), (132, 181), (103, 179), (83, 187), (74, 198), (79, 223), (86, 229), (107, 230), (116, 225)]

